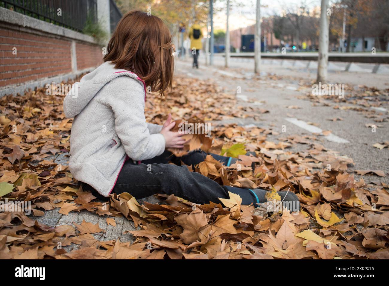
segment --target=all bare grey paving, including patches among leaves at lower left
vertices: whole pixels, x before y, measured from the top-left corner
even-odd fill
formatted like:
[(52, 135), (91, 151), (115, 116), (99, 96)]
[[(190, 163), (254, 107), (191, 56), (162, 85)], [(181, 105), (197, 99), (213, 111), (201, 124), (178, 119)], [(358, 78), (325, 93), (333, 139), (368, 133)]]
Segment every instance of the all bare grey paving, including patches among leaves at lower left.
[[(201, 63), (201, 61), (200, 61)], [(383, 142), (388, 140), (389, 123), (384, 121), (379, 123), (383, 127), (378, 128), (376, 133), (371, 133), (370, 128), (364, 125), (369, 121), (361, 112), (352, 110), (334, 109), (332, 102), (328, 101), (326, 104), (314, 105), (308, 100), (303, 100), (301, 95), (309, 93), (310, 88), (305, 85), (309, 79), (301, 79), (304, 73), (294, 73), (293, 76), (285, 76), (285, 71), (279, 73), (279, 77), (272, 77), (267, 75), (269, 67), (264, 68), (261, 78), (253, 77), (254, 74), (250, 72), (249, 67), (234, 67), (231, 69), (219, 69), (217, 67), (204, 67), (200, 65), (200, 69), (193, 69), (189, 61), (176, 62), (176, 74), (187, 77), (210, 79), (217, 82), (226, 93), (237, 95), (237, 108), (239, 106), (249, 107), (256, 105), (261, 109), (270, 111), (269, 113), (258, 114), (258, 119), (253, 118), (235, 118), (226, 119), (223, 121), (212, 122), (214, 125), (224, 123), (238, 123), (239, 125), (256, 125), (260, 127), (270, 128), (279, 133), (279, 135), (268, 135), (270, 141), (277, 142), (278, 138), (289, 135), (314, 135), (307, 126), (313, 126), (308, 123), (316, 123), (316, 128), (321, 130), (331, 130), (331, 136), (318, 137), (321, 144), (341, 154), (347, 155), (356, 163), (355, 169), (373, 169), (383, 170), (389, 173), (388, 164), (388, 149), (379, 150), (372, 145), (376, 142)], [(331, 75), (332, 76), (332, 75)], [(371, 75), (368, 75), (369, 77)], [(367, 84), (367, 82), (366, 82)], [(237, 94), (237, 88), (240, 87), (242, 93)], [(346, 106), (346, 104), (337, 104)], [(298, 107), (298, 108), (297, 108)], [(377, 111), (377, 114), (387, 116), (387, 112)], [(343, 118), (342, 121), (329, 121), (329, 118)], [(296, 121), (297, 120), (297, 121)], [(303, 124), (305, 123), (305, 125)], [(282, 132), (283, 126), (286, 127), (286, 132)], [(303, 126), (303, 127), (302, 127)], [(335, 139), (334, 139), (335, 138)], [(336, 142), (336, 138), (343, 139), (345, 142)], [(287, 151), (304, 151), (307, 145), (295, 144)], [(67, 164), (68, 154), (61, 154), (54, 159), (57, 163), (63, 165)], [(356, 177), (358, 177), (356, 175)], [(373, 175), (365, 175), (366, 182), (370, 181), (385, 181), (387, 178), (377, 177)], [(151, 203), (162, 203), (156, 197), (148, 197), (139, 202), (147, 201)], [(89, 211), (70, 212), (69, 215), (58, 213), (59, 209), (46, 211), (44, 216), (35, 217), (40, 223), (49, 226), (72, 225), (72, 223), (80, 224), (83, 220), (90, 223), (98, 223), (99, 227), (105, 230), (103, 235), (96, 235), (94, 237), (100, 240), (116, 240), (121, 242), (133, 242), (134, 238), (131, 234), (124, 234), (128, 230), (135, 230), (132, 221), (124, 217), (114, 218), (116, 227), (107, 225), (105, 217), (99, 217)], [(113, 218), (113, 217), (112, 217)], [(72, 244), (67, 247), (67, 250), (77, 248), (78, 246)]]

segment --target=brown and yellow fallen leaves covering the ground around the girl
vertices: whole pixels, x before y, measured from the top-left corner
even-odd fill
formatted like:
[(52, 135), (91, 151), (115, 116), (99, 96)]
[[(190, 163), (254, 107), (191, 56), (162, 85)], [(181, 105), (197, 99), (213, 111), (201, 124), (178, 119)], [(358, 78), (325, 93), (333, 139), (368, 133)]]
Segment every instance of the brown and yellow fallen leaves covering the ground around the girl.
[[(269, 189), (269, 199), (280, 199), (276, 191), (292, 191), (300, 199), (299, 212), (242, 205), (232, 193), (221, 203), (203, 205), (173, 195), (159, 195), (163, 204), (140, 204), (128, 193), (113, 194), (102, 202), (82, 190), (66, 164), (56, 163), (69, 150), (72, 120), (64, 118), (63, 95), (45, 91), (0, 100), (1, 206), (30, 202), (35, 217), (56, 208), (64, 215), (86, 210), (113, 226), (112, 218), (124, 216), (136, 226), (137, 230), (126, 231), (136, 240), (102, 241), (96, 234), (103, 230), (90, 222), (48, 226), (24, 211), (0, 210), (0, 258), (389, 258), (389, 186), (356, 181), (347, 172), (352, 159), (327, 150), (320, 137), (290, 135), (271, 142), (267, 135), (277, 135), (271, 129), (213, 126), (213, 140), (199, 139), (201, 144), (195, 147), (239, 160), (226, 167), (207, 156), (194, 170), (188, 167), (220, 184)], [(268, 112), (236, 106), (234, 96), (196, 79), (176, 78), (165, 97), (147, 98), (146, 118), (157, 124), (168, 113), (175, 119), (215, 122), (256, 119)], [(287, 151), (294, 144), (305, 144), (307, 149)], [(247, 151), (256, 156), (245, 155)], [(65, 246), (71, 244), (77, 248), (68, 252)]]

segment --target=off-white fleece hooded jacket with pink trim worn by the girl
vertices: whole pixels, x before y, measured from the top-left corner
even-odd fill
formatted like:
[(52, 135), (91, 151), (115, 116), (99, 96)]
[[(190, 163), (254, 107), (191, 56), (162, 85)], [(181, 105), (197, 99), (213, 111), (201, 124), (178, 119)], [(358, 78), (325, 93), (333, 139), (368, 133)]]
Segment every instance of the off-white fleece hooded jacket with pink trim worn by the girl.
[(144, 82), (109, 62), (73, 86), (63, 110), (74, 117), (69, 169), (75, 179), (107, 197), (128, 157), (147, 160), (163, 153), (162, 126), (146, 123), (144, 107)]

